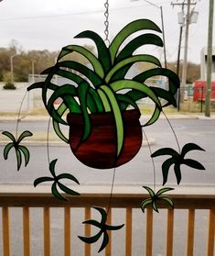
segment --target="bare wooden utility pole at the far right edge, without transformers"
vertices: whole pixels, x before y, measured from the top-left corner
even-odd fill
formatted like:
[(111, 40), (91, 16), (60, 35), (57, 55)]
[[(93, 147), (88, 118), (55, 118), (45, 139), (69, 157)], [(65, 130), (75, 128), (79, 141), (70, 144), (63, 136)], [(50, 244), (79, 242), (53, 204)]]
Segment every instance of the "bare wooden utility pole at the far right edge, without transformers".
[(212, 40), (213, 40), (214, 0), (210, 0), (208, 28), (207, 86), (205, 97), (205, 117), (210, 117), (211, 72), (212, 72)]

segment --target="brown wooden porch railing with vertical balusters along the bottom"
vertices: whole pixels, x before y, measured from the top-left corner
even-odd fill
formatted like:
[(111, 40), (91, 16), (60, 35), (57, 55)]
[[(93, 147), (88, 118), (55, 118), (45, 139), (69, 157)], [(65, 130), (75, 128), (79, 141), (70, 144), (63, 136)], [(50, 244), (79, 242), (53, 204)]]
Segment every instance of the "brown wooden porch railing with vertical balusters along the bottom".
[[(0, 206), (2, 207), (2, 241), (0, 242), (2, 248), (2, 254), (4, 256), (11, 256), (11, 209), (14, 207), (21, 207), (22, 209), (22, 230), (23, 234), (19, 234), (23, 236), (23, 255), (30, 256), (32, 253), (31, 248), (31, 211), (34, 211), (34, 208), (41, 207), (43, 209), (43, 254), (45, 256), (49, 255), (57, 255), (53, 253), (51, 248), (51, 219), (50, 219), (50, 211), (52, 208), (62, 208), (63, 209), (63, 218), (64, 218), (64, 235), (63, 235), (63, 248), (64, 251), (61, 252), (60, 255), (77, 255), (73, 254), (73, 248), (71, 246), (71, 237), (72, 236), (72, 211), (75, 208), (83, 208), (84, 209), (84, 219), (91, 218), (92, 209), (91, 206), (102, 206), (108, 207), (110, 194), (109, 189), (106, 187), (77, 187), (77, 190), (81, 193), (81, 196), (69, 196), (70, 201), (60, 201), (54, 198), (50, 193), (48, 193), (50, 188), (48, 187), (40, 187), (37, 189), (24, 186), (0, 186)], [(145, 211), (146, 213), (142, 213), (139, 210), (140, 220), (138, 220), (137, 224), (134, 224), (134, 210), (140, 208), (140, 204), (142, 200), (144, 200), (148, 195), (144, 194), (143, 188), (134, 188), (134, 187), (123, 187), (118, 186), (113, 190), (113, 197), (111, 200), (111, 209), (109, 210), (108, 222), (112, 223), (113, 221), (113, 211), (115, 209), (119, 210), (124, 208), (125, 213), (125, 228), (124, 228), (124, 239), (122, 235), (120, 239), (124, 241), (124, 244), (120, 244), (121, 252), (116, 253), (114, 250), (114, 243), (119, 243), (114, 240), (113, 242), (113, 233), (109, 233), (110, 242), (106, 247), (104, 254), (101, 252), (101, 255), (117, 255), (117, 256), (129, 256), (129, 255), (146, 255), (152, 256), (157, 255), (154, 253), (154, 248), (156, 246), (156, 242), (160, 242), (158, 239), (154, 239), (156, 234), (156, 217), (159, 217), (159, 214), (155, 214), (150, 207)], [(166, 221), (163, 236), (166, 237), (165, 241), (165, 251), (160, 255), (207, 255), (213, 256), (215, 253), (214, 250), (214, 240), (215, 240), (215, 189), (212, 187), (209, 188), (178, 188), (177, 192), (172, 192), (171, 197), (175, 201), (175, 208), (167, 208), (167, 205), (159, 205), (159, 209), (163, 211), (162, 215), (164, 215), (164, 220)], [(175, 222), (175, 214), (178, 209), (184, 209), (186, 213), (188, 213), (188, 221), (186, 224), (185, 230), (181, 233), (180, 236), (186, 236), (187, 240), (187, 248), (185, 254), (183, 253), (174, 253), (174, 246), (181, 247), (178, 245), (177, 240), (174, 239), (174, 228), (176, 225), (181, 226), (182, 224), (176, 224)], [(199, 248), (195, 250), (195, 239), (196, 237), (196, 212), (199, 209), (206, 210), (206, 215), (204, 219), (207, 218), (207, 227), (206, 228), (206, 238), (203, 239), (200, 237), (200, 240), (205, 240), (205, 251), (204, 254), (198, 254)], [(31, 211), (29, 211), (31, 210)], [(204, 211), (205, 212), (205, 211)], [(84, 219), (78, 219), (76, 221), (82, 222)], [(145, 222), (145, 241), (143, 240), (141, 244), (138, 245), (138, 248), (133, 248), (133, 235), (136, 227), (134, 225), (141, 225), (142, 222)], [(117, 225), (118, 223), (113, 223), (113, 225)], [(122, 224), (122, 223), (120, 223)], [(203, 225), (203, 221), (200, 220), (200, 225)], [(83, 226), (85, 229), (83, 231), (84, 236), (89, 237), (92, 235), (92, 230), (90, 225)], [(137, 228), (138, 229), (138, 228)], [(139, 230), (139, 229), (138, 229)], [(118, 232), (118, 231), (114, 231)], [(139, 231), (138, 231), (139, 232)], [(115, 237), (114, 237), (115, 238)], [(115, 239), (117, 239), (116, 237)], [(35, 238), (34, 238), (35, 239)], [(120, 242), (123, 242), (120, 241)], [(99, 240), (102, 242), (102, 240)], [(16, 244), (14, 245), (16, 246)], [(200, 246), (200, 245), (197, 245)], [(83, 255), (97, 255), (95, 252), (92, 252), (91, 245), (84, 244)], [(134, 253), (135, 252), (135, 253)], [(114, 254), (116, 253), (116, 254)], [(17, 255), (17, 254), (16, 254)], [(19, 254), (18, 254), (19, 255)], [(36, 254), (34, 254), (36, 255)], [(78, 254), (79, 256), (81, 254)]]

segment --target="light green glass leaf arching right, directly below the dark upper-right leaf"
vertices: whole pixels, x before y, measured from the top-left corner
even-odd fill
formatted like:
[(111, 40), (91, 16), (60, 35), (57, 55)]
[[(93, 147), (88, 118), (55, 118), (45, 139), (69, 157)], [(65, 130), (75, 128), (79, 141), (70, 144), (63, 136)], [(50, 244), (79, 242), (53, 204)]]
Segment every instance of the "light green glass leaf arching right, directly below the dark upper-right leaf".
[[(110, 72), (108, 72), (108, 74), (105, 77), (105, 82), (106, 83), (111, 83), (113, 80), (123, 79), (124, 75), (126, 74), (127, 70), (129, 69), (129, 67), (132, 66), (134, 63), (136, 63), (138, 61), (145, 61), (145, 62), (149, 62), (149, 63), (154, 63), (157, 66), (161, 66), (160, 61), (155, 56), (152, 56), (152, 55), (149, 55), (149, 54), (135, 55), (135, 56), (126, 58), (123, 61), (120, 61), (117, 64), (113, 65), (113, 68), (111, 69)], [(124, 69), (124, 67), (126, 69), (124, 70), (123, 73), (120, 73), (120, 75), (117, 75), (117, 76), (115, 75), (113, 77), (114, 73), (119, 72), (120, 70)]]

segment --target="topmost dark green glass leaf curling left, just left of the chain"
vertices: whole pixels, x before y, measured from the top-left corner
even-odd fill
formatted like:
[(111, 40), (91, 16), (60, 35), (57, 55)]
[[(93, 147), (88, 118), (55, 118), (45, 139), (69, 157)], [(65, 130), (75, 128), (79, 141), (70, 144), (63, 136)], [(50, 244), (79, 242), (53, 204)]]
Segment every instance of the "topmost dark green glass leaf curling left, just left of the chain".
[(103, 70), (105, 72), (110, 70), (111, 67), (111, 56), (108, 48), (106, 47), (103, 39), (95, 33), (94, 31), (91, 30), (86, 30), (81, 32), (79, 35), (75, 37), (75, 39), (91, 39), (95, 43), (98, 51), (98, 59), (101, 61)]

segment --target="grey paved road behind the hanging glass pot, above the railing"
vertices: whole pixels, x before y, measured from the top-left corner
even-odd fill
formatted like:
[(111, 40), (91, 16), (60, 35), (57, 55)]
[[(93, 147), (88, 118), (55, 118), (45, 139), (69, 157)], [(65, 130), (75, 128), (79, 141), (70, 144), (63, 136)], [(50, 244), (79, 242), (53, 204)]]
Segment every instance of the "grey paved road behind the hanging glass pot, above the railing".
[[(214, 119), (171, 119), (177, 139), (181, 147), (189, 142), (195, 142), (206, 150), (193, 151), (189, 153), (194, 159), (201, 161), (207, 171), (199, 171), (183, 167), (182, 184), (215, 184), (215, 120)], [(14, 130), (15, 123), (1, 123), (1, 129)], [(23, 126), (23, 127), (22, 127)], [(44, 122), (21, 122), (22, 128), (30, 130), (45, 130), (47, 125)], [(45, 127), (45, 128), (44, 128)], [(161, 119), (155, 125), (145, 128), (145, 134), (149, 138), (156, 139), (156, 144), (151, 146), (155, 151), (162, 147), (173, 147), (177, 150), (177, 143), (174, 133), (169, 128), (167, 121)], [(32, 183), (39, 175), (44, 175), (48, 170), (48, 157), (46, 147), (29, 147), (31, 151), (31, 161), (27, 168), (23, 168), (16, 173), (16, 162), (12, 155), (8, 161), (3, 160), (3, 147), (0, 148), (0, 183)], [(113, 170), (93, 170), (77, 161), (70, 152), (70, 147), (50, 147), (50, 159), (58, 158), (57, 170), (59, 173), (73, 173), (81, 184), (111, 184)], [(117, 168), (116, 184), (152, 184), (153, 183), (153, 165), (150, 156), (150, 150), (144, 146), (139, 151), (133, 161)], [(161, 177), (161, 158), (156, 158), (156, 182), (162, 183)], [(169, 173), (169, 184), (176, 184), (174, 172)]]

